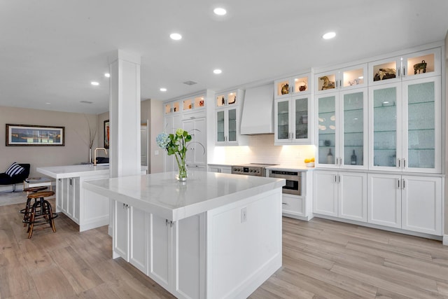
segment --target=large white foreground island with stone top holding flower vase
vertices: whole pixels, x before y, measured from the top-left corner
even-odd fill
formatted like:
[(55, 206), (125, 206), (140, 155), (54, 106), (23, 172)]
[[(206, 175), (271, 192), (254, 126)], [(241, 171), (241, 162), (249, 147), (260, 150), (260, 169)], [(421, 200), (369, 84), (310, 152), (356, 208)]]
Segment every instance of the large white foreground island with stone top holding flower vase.
[(188, 172), (84, 183), (113, 202), (119, 256), (177, 298), (247, 298), (281, 267), (284, 179)]

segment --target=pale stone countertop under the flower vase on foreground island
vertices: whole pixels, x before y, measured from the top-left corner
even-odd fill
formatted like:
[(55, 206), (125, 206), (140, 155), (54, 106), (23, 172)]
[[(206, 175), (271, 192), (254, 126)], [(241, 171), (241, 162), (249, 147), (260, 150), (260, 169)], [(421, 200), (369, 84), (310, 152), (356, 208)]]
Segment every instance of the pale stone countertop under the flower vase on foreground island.
[(84, 188), (171, 221), (201, 214), (285, 185), (284, 179), (215, 172), (188, 172), (186, 182), (176, 172), (87, 181)]

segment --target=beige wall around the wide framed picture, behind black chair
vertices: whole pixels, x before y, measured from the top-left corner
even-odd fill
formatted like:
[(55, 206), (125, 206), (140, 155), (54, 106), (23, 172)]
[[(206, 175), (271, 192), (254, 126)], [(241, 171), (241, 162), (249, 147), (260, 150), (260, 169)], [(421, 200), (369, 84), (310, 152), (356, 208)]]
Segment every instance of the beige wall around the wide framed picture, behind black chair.
[[(6, 124), (65, 127), (65, 146), (6, 146)], [(12, 162), (31, 164), (30, 176), (41, 176), (36, 167), (75, 165), (89, 160), (89, 124), (97, 116), (0, 106), (0, 172)], [(97, 146), (97, 139), (93, 147)]]

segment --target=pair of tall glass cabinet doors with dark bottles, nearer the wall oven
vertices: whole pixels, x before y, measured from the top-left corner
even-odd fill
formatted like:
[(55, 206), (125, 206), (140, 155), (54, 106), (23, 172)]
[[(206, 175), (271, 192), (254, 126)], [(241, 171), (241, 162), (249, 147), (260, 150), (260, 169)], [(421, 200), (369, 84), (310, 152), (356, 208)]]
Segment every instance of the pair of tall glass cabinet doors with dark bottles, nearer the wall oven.
[(321, 95), (318, 104), (318, 165), (367, 168), (367, 88)]

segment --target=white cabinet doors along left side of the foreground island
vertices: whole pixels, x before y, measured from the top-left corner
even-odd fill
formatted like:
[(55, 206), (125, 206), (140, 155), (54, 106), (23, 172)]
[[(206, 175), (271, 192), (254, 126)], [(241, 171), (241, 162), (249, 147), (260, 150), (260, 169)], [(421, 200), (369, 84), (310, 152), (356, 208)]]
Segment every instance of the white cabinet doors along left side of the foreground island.
[(120, 256), (177, 298), (204, 298), (204, 215), (173, 222), (113, 202), (113, 258)]

